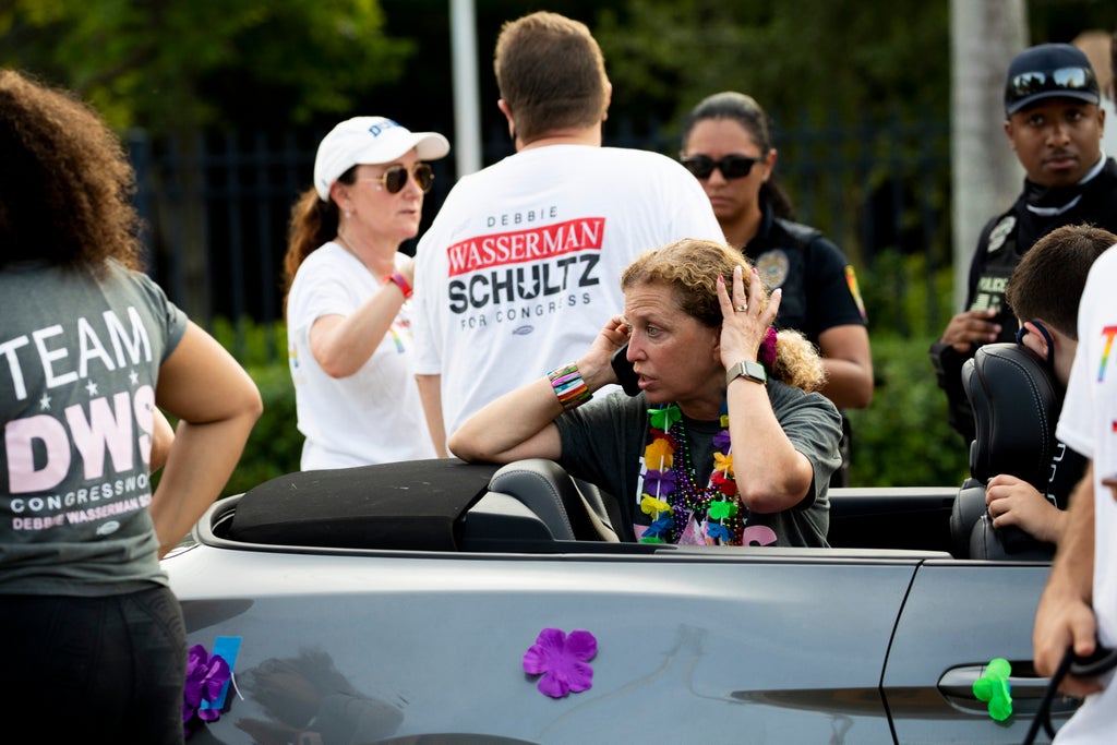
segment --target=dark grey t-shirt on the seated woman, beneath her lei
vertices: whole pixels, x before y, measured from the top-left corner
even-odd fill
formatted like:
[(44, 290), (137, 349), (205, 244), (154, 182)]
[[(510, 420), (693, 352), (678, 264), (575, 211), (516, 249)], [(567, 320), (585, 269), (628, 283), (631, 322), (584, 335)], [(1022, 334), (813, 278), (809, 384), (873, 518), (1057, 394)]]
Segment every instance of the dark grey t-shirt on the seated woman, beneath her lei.
[[(790, 509), (770, 514), (750, 514), (747, 526), (767, 526), (775, 534), (765, 545), (827, 546), (830, 502), (827, 490), (830, 475), (841, 465), (838, 442), (841, 417), (828, 399), (804, 393), (777, 380), (770, 380), (772, 410), (799, 452), (806, 456), (814, 480), (803, 500)], [(572, 476), (598, 485), (617, 498), (626, 541), (636, 539), (633, 525), (647, 525), (650, 517), (639, 507), (637, 484), (640, 458), (648, 438), (648, 401), (643, 393), (628, 397), (612, 393), (569, 411), (557, 420), (562, 438), (560, 465)], [(697, 421), (684, 417), (687, 442), (697, 480), (705, 484), (714, 468), (714, 436), (722, 429), (717, 421)], [(738, 478), (747, 478), (747, 474)]]

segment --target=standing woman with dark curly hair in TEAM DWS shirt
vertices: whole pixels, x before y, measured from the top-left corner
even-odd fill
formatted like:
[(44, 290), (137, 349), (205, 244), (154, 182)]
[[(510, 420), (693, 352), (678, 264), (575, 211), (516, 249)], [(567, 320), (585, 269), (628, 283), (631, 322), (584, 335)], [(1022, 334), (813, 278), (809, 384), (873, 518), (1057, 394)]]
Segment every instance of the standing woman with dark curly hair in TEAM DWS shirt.
[(159, 558), (225, 487), (259, 392), (139, 270), (134, 174), (92, 108), (0, 70), (0, 163), (4, 710), (46, 742), (179, 743)]

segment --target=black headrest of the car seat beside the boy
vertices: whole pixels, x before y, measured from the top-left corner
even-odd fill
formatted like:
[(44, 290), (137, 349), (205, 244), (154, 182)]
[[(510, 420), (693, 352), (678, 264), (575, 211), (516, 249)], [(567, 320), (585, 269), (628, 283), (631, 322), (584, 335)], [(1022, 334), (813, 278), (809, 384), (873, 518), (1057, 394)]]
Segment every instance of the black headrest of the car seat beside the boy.
[(1062, 389), (1044, 361), (1022, 344), (986, 344), (962, 367), (962, 384), (977, 432), (970, 475), (984, 484), (1012, 474), (1042, 493), (1062, 408)]

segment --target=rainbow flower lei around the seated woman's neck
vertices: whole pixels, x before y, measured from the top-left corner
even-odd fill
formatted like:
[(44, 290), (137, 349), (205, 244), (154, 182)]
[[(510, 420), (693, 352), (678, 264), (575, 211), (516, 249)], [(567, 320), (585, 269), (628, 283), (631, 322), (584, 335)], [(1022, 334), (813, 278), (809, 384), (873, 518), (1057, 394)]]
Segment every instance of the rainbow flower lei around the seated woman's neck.
[(696, 483), (678, 404), (649, 409), (648, 414), (649, 443), (641, 462), (637, 504), (652, 523), (640, 542), (684, 539), (684, 543), (739, 546), (746, 510), (734, 480), (726, 404), (722, 404), (722, 430), (714, 436), (714, 470), (704, 487)]

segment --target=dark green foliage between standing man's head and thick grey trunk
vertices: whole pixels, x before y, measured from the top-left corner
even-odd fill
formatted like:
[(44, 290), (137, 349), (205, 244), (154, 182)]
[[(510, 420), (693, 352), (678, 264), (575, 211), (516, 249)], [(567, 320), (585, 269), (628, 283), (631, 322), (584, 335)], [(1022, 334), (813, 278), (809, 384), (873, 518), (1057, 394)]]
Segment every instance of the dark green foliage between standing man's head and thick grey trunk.
[(923, 0), (627, 0), (600, 11), (595, 32), (614, 101), (667, 117), (735, 89), (770, 113), (815, 121), (880, 121), (896, 107), (945, 118), (947, 11)]

